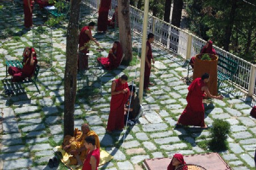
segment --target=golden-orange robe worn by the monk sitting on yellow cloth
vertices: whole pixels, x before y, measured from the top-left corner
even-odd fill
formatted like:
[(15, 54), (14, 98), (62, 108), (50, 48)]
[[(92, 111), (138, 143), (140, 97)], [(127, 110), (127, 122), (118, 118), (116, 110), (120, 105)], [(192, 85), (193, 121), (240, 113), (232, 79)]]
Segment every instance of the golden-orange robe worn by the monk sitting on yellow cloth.
[[(85, 143), (85, 138), (88, 137), (88, 136), (91, 136), (93, 135), (94, 138), (95, 138), (95, 146), (97, 148), (100, 148), (100, 142), (99, 142), (99, 137), (98, 135), (93, 131), (89, 131), (81, 140), (81, 142), (75, 142), (76, 139), (80, 138), (82, 135), (82, 133), (79, 133), (79, 131), (77, 131), (77, 128), (75, 129), (74, 131), (74, 137), (70, 137), (70, 135), (67, 135), (65, 138), (64, 138), (64, 146), (66, 146), (65, 142), (66, 141), (69, 141), (68, 143), (71, 143), (71, 147), (69, 148), (68, 152), (72, 151), (72, 150), (77, 150), (81, 147), (84, 146), (84, 143)], [(68, 144), (69, 145), (69, 144)], [(86, 158), (86, 155), (87, 155), (87, 150), (84, 150), (82, 152), (79, 153), (79, 157), (81, 159), (81, 161), (83, 162)], [(69, 158), (70, 160), (70, 165), (76, 165), (77, 164), (77, 159), (75, 158), (75, 156), (73, 157), (70, 157)]]

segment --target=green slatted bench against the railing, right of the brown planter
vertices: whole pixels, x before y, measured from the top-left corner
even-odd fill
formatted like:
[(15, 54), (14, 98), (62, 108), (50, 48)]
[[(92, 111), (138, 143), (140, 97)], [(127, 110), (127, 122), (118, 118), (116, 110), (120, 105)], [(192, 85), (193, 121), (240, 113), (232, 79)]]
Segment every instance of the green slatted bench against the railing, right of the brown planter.
[(224, 57), (221, 54), (217, 54), (217, 55), (219, 56), (218, 66), (217, 66), (218, 91), (219, 91), (221, 82), (223, 82), (224, 80), (231, 80), (232, 86), (234, 87), (232, 79), (233, 79), (233, 75), (236, 74), (237, 72), (238, 62), (228, 57)]

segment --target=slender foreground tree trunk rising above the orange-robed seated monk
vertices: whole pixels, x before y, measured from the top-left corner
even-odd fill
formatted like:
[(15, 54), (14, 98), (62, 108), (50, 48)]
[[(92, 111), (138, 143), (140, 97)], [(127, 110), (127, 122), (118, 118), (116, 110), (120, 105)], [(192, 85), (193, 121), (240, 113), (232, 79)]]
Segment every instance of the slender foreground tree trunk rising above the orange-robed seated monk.
[(77, 92), (78, 20), (81, 0), (72, 1), (66, 37), (64, 76), (64, 136), (74, 135), (74, 104)]

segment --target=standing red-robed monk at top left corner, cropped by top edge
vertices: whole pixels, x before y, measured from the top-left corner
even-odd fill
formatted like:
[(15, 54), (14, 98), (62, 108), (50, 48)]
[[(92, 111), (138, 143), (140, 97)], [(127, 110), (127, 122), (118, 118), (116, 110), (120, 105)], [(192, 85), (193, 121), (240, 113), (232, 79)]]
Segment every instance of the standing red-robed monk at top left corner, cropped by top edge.
[(32, 0), (23, 0), (23, 8), (24, 8), (24, 25), (25, 28), (32, 27)]

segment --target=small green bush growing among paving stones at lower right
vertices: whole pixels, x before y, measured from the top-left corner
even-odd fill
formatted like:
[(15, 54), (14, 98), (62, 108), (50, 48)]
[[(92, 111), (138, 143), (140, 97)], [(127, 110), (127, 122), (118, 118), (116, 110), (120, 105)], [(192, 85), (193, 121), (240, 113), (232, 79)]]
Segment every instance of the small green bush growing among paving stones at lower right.
[(230, 133), (230, 124), (224, 120), (214, 120), (212, 128), (209, 129), (211, 134), (211, 141), (209, 148), (213, 151), (222, 151), (228, 149), (226, 139)]

